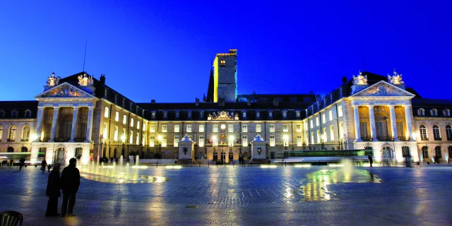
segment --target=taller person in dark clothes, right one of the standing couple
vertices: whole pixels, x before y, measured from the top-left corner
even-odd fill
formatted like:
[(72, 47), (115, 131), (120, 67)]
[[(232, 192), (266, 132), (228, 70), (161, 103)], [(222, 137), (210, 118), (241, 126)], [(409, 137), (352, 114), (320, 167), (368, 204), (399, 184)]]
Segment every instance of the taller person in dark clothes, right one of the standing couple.
[[(61, 190), (63, 190), (63, 207), (61, 208), (61, 217), (75, 216), (73, 206), (76, 204), (76, 193), (80, 186), (80, 172), (76, 168), (77, 160), (71, 158), (69, 166), (63, 169), (61, 173)], [(69, 201), (69, 208), (68, 208)]]

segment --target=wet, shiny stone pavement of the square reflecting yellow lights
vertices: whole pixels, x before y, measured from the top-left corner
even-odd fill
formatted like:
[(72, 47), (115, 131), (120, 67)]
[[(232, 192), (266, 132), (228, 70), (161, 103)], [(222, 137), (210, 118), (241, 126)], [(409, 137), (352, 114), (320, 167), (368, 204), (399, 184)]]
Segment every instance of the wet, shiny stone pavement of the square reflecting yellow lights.
[[(45, 218), (48, 173), (0, 168), (0, 212), (24, 225), (452, 225), (452, 165), (150, 167), (150, 184), (83, 178), (73, 218)], [(61, 210), (59, 198), (59, 211)]]

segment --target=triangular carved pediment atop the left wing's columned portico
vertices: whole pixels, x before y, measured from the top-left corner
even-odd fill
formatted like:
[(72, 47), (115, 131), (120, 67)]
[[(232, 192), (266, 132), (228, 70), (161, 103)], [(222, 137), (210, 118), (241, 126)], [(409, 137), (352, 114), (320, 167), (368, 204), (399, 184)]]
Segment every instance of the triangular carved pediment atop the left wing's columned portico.
[(95, 98), (95, 96), (69, 83), (61, 83), (40, 93), (35, 98)]

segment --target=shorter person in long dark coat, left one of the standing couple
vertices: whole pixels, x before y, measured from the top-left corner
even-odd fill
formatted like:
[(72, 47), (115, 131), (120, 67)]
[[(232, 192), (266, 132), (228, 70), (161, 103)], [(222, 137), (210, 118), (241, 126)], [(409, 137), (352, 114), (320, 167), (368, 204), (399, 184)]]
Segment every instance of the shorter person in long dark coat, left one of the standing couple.
[[(49, 174), (49, 181), (47, 182), (47, 189), (45, 195), (49, 197), (49, 202), (47, 202), (47, 211), (45, 212), (46, 217), (57, 217), (58, 213), (58, 197), (61, 196), (60, 189), (60, 178), (59, 178), (59, 162), (54, 164), (54, 169)], [(45, 171), (45, 166), (42, 167)]]

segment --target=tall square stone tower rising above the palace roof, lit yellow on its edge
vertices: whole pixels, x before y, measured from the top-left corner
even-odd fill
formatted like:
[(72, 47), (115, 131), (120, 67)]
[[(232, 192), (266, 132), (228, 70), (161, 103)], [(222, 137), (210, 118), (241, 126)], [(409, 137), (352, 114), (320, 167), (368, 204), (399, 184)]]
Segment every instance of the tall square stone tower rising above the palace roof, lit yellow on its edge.
[(237, 49), (227, 54), (217, 54), (213, 61), (213, 102), (237, 99)]

